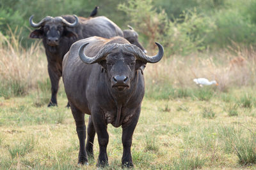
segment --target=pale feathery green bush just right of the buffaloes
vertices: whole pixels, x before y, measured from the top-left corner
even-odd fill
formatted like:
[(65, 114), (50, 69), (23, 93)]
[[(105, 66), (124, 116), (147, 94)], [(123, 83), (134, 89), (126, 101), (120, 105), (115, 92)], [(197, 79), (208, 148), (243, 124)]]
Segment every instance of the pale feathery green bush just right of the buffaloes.
[(164, 46), (169, 46), (165, 51), (168, 55), (179, 53), (186, 55), (198, 50), (204, 50), (207, 34), (216, 29), (214, 20), (210, 17), (198, 14), (196, 10), (184, 11), (179, 18), (169, 22), (166, 35), (161, 40)]

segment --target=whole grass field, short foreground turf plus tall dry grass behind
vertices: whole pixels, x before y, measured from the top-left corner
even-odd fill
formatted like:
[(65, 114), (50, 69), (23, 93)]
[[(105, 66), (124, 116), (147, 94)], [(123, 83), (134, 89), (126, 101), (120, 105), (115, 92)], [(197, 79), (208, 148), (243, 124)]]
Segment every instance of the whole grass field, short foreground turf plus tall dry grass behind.
[[(79, 141), (62, 82), (58, 107), (47, 108), (42, 47), (0, 40), (0, 169), (96, 169), (97, 137), (95, 160), (77, 167)], [(237, 49), (147, 64), (134, 169), (256, 169), (256, 52)], [(243, 66), (230, 67), (235, 57), (244, 57)], [(220, 85), (196, 87), (196, 77)], [(121, 169), (122, 129), (109, 125), (108, 132), (106, 169)]]

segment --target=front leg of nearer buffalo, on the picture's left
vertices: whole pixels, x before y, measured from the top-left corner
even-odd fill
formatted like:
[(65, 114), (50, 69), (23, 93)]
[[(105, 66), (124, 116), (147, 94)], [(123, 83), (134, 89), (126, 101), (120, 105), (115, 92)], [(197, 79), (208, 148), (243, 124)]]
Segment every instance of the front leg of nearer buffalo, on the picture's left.
[(100, 147), (97, 167), (105, 167), (108, 166), (107, 146), (109, 136), (107, 131), (107, 124), (101, 115), (92, 116), (92, 122), (98, 136)]

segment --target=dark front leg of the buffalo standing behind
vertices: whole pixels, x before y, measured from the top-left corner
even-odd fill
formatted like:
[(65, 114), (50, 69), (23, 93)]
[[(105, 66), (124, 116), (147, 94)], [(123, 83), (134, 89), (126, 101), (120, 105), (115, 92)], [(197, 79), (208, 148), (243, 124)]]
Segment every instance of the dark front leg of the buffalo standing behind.
[(52, 97), (51, 97), (50, 103), (48, 104), (48, 107), (58, 106), (57, 92), (59, 89), (60, 74), (58, 74), (58, 72), (54, 70), (54, 66), (51, 66), (51, 65), (48, 65), (48, 73), (51, 80), (51, 91), (52, 91)]

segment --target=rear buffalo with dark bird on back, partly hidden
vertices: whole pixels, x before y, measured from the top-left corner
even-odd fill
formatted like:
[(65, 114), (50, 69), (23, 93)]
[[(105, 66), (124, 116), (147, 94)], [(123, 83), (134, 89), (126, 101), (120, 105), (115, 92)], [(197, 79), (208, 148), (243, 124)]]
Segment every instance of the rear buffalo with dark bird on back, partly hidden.
[(48, 73), (51, 80), (51, 101), (48, 106), (57, 106), (57, 92), (62, 75), (62, 60), (72, 43), (91, 36), (111, 38), (123, 36), (122, 30), (106, 17), (83, 18), (76, 15), (45, 17), (40, 22), (33, 22), (32, 27), (39, 27), (30, 33), (30, 38), (42, 38), (48, 61)]

